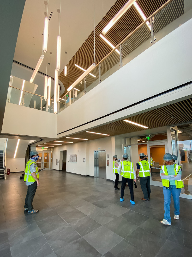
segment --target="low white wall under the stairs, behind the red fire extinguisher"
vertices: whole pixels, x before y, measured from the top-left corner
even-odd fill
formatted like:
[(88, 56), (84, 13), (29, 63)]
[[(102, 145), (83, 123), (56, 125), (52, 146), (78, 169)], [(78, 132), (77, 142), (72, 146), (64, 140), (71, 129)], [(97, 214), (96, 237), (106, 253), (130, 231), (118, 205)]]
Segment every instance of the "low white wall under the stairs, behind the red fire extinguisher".
[(6, 172), (7, 168), (10, 168), (10, 173), (21, 171), (25, 172), (25, 158), (6, 158)]

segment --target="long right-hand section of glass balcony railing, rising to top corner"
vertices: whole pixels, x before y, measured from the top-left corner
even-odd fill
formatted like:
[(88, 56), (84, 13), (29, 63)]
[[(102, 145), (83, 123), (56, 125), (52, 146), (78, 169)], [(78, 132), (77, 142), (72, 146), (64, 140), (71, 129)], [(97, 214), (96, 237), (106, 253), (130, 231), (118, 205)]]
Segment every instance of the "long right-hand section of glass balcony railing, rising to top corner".
[[(91, 71), (91, 74), (94, 76), (90, 74), (87, 75), (84, 78), (85, 81), (81, 81), (81, 84), (77, 84), (77, 86), (71, 90), (71, 93), (68, 92), (62, 96), (59, 101), (59, 112), (74, 103), (92, 88), (99, 85), (101, 81), (104, 81), (156, 41), (175, 30), (179, 24), (191, 19), (190, 12), (192, 4), (190, 0), (187, 1), (188, 3), (184, 0), (169, 0), (148, 17), (95, 66)], [(186, 6), (184, 6), (184, 4)], [(170, 25), (170, 23), (172, 23), (172, 25)], [(71, 96), (71, 100), (66, 99), (69, 95)]]

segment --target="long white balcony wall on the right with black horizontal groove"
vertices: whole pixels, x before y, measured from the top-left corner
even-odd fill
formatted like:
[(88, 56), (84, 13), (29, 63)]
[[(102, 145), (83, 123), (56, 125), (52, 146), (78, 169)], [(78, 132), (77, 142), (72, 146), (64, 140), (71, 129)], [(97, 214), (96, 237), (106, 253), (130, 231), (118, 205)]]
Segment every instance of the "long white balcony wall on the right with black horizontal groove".
[[(57, 133), (90, 122), (105, 114), (134, 104), (139, 100), (163, 93), (165, 90), (191, 81), (191, 32), (192, 19), (169, 33), (110, 77), (106, 78), (98, 86), (78, 99), (77, 102), (74, 102), (59, 113)], [(120, 101), (114, 101), (114, 91), (117, 89), (117, 85), (118, 92), (121, 92)], [(145, 90), (138, 96), (137, 92), (142, 90), (142, 88), (145, 88)], [(179, 89), (180, 96), (177, 97), (182, 97), (181, 91)], [(172, 94), (173, 92), (167, 94), (169, 96), (167, 100), (171, 99)], [(150, 104), (148, 106), (148, 109), (154, 106), (158, 107), (162, 103), (165, 104), (165, 100), (165, 95), (159, 97), (158, 101), (153, 101), (153, 105)], [(148, 102), (151, 103), (152, 100)], [(144, 104), (140, 105), (140, 112), (144, 110)], [(95, 106), (97, 106), (97, 112), (95, 112)], [(91, 128), (114, 121), (115, 119), (119, 120), (135, 114), (134, 111), (134, 108), (129, 108), (126, 111), (119, 112), (117, 116), (111, 115), (110, 117), (102, 118), (78, 129), (62, 133), (59, 136), (87, 129), (88, 126)], [(73, 118), (70, 123), (66, 123), (65, 117)]]

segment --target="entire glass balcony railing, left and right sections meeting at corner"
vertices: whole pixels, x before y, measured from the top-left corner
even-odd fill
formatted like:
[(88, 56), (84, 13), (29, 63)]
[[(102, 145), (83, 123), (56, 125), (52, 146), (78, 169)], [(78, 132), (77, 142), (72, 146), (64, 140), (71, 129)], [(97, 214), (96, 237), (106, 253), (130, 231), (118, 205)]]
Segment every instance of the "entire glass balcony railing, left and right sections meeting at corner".
[[(59, 112), (98, 86), (100, 82), (175, 30), (180, 24), (191, 19), (191, 10), (191, 0), (168, 0), (103, 58), (80, 83), (60, 98)], [(17, 86), (13, 87), (12, 84), (9, 85), (7, 102), (53, 113), (54, 101), (52, 99), (51, 105), (47, 106), (47, 101), (43, 96), (22, 91)], [(36, 86), (34, 84), (34, 92)]]

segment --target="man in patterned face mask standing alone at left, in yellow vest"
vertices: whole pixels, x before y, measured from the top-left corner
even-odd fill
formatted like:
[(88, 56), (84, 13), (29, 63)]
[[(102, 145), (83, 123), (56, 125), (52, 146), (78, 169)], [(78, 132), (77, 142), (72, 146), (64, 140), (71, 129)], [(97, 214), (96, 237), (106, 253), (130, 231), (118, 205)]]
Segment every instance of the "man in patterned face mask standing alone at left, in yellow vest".
[(25, 208), (25, 211), (32, 214), (32, 213), (39, 212), (39, 210), (36, 210), (35, 208), (33, 208), (33, 205), (32, 205), (37, 186), (40, 186), (38, 167), (36, 164), (36, 161), (38, 160), (39, 155), (37, 151), (31, 151), (29, 155), (30, 155), (30, 159), (26, 164), (25, 176), (24, 176), (25, 184), (26, 186), (28, 186), (24, 208)]

